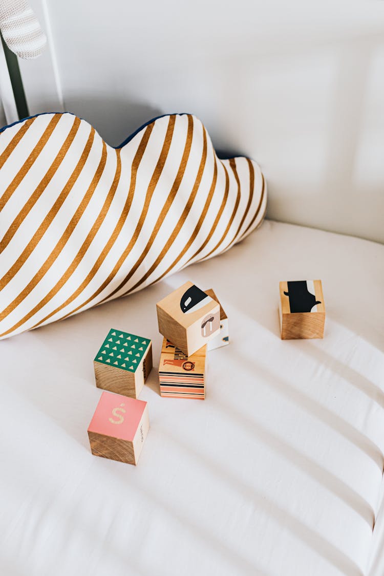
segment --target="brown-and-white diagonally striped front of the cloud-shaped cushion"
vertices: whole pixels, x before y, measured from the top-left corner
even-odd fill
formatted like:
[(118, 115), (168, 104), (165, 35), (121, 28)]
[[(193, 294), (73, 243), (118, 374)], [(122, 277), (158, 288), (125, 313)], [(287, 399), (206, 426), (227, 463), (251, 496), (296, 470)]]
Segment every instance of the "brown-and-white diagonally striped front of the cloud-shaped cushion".
[(218, 255), (263, 220), (248, 158), (219, 160), (189, 114), (120, 148), (70, 113), (0, 133), (0, 339), (60, 320)]

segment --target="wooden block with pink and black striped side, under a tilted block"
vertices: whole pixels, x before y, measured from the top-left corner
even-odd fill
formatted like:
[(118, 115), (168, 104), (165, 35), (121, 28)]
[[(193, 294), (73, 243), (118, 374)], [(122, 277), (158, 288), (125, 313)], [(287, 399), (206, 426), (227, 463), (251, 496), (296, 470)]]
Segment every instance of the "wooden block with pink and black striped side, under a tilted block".
[(207, 344), (192, 356), (185, 355), (163, 339), (159, 364), (160, 396), (204, 400), (207, 374)]

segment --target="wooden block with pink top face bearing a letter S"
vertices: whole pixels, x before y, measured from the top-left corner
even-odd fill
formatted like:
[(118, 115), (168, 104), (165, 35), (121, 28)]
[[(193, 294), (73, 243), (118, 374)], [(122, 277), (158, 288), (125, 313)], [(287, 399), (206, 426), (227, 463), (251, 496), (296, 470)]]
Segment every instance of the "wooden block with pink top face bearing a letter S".
[(92, 454), (136, 465), (148, 430), (146, 402), (103, 392), (88, 427)]

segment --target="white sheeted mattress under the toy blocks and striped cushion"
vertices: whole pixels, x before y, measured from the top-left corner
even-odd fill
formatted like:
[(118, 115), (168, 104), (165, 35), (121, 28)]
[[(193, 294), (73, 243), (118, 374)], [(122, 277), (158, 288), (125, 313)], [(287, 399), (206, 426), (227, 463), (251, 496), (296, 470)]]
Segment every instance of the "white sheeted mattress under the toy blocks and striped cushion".
[[(366, 576), (379, 566), (384, 246), (265, 221), (224, 255), (0, 343), (4, 576)], [(206, 400), (159, 396), (155, 303), (213, 288)], [(321, 279), (322, 340), (280, 340), (279, 281)], [(90, 453), (110, 328), (153, 339), (137, 467)], [(379, 570), (379, 568), (376, 568)], [(372, 572), (373, 574), (373, 572)], [(377, 572), (379, 574), (379, 572)], [(375, 574), (376, 576), (376, 574)]]

